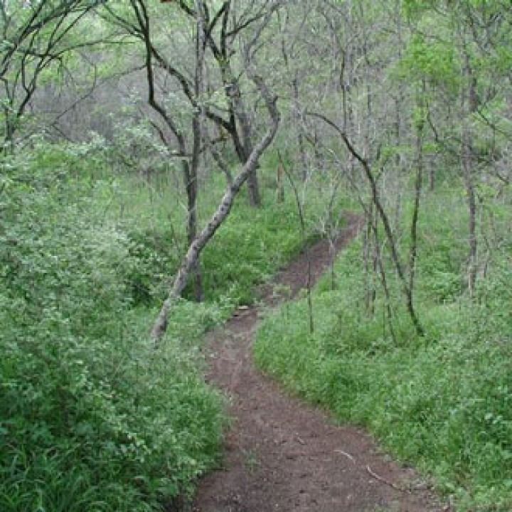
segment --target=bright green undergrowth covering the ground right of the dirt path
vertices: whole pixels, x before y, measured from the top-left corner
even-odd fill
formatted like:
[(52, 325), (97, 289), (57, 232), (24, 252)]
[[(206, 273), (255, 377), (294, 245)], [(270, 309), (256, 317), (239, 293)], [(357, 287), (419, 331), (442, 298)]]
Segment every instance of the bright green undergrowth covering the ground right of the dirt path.
[(305, 299), (284, 304), (263, 321), (255, 358), (338, 420), (368, 427), (393, 454), (432, 475), (459, 510), (506, 512), (512, 510), (511, 209), (507, 201), (487, 206), (496, 250), (471, 301), (464, 292), (464, 198), (425, 198), (417, 282), (425, 337), (415, 335), (396, 306), (398, 283), (389, 266), (395, 339), (380, 289), (374, 314), (366, 311), (358, 239), (336, 263), (336, 289), (327, 278), (316, 287), (314, 334)]

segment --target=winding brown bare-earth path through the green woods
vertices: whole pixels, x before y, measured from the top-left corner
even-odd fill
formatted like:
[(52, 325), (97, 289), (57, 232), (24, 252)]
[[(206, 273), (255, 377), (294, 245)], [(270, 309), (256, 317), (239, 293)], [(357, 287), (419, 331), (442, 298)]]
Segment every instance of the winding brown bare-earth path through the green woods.
[[(360, 220), (348, 215), (338, 240), (343, 248)], [(326, 242), (309, 250), (314, 279), (329, 265)], [(279, 273), (292, 294), (305, 286), (301, 255)], [(272, 305), (272, 290), (263, 292)], [(208, 380), (230, 398), (233, 426), (225, 439), (223, 467), (200, 483), (196, 512), (434, 512), (448, 511), (405, 469), (379, 452), (354, 427), (338, 427), (329, 415), (304, 405), (262, 375), (251, 356), (256, 307), (240, 311), (210, 334)]]

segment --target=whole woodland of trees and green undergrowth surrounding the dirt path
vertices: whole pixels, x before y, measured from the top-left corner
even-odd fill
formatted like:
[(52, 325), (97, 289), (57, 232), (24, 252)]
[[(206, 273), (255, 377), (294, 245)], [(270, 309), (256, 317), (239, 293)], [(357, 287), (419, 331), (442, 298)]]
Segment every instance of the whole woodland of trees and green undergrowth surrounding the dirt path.
[(193, 496), (230, 424), (204, 334), (319, 239), (257, 366), (512, 510), (512, 1), (0, 0), (0, 31), (2, 512)]

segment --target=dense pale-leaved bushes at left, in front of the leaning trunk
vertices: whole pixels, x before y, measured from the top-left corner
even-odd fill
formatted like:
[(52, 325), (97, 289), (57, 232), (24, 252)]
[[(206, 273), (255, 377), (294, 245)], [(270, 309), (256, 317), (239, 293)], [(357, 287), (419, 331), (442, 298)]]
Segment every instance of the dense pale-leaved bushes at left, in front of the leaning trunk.
[(217, 457), (221, 402), (198, 343), (220, 313), (179, 304), (154, 351), (156, 311), (134, 308), (134, 282), (161, 262), (105, 220), (107, 184), (78, 161), (70, 176), (65, 153), (4, 166), (0, 508), (158, 509)]

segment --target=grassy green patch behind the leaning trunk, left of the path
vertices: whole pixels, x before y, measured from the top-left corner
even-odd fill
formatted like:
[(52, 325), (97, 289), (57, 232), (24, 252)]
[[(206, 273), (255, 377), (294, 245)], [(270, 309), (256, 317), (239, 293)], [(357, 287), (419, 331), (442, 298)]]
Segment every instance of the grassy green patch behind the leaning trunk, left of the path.
[[(255, 285), (269, 279), (316, 236), (314, 213), (321, 204), (307, 206), (311, 221), (304, 240), (292, 193), (278, 203), (274, 183), (269, 182), (269, 188), (262, 188), (261, 208), (250, 208), (246, 192), (240, 193), (228, 219), (201, 255), (206, 301), (228, 300), (228, 311), (252, 302)], [(142, 304), (164, 299), (169, 279), (186, 251), (186, 211), (183, 193), (181, 188), (176, 193), (176, 186), (181, 187), (181, 181), (173, 176), (149, 182), (138, 177), (118, 178), (103, 181), (102, 190), (96, 193), (106, 205), (105, 218), (121, 226), (129, 237), (131, 254), (138, 262), (130, 276), (132, 295)], [(201, 181), (198, 230), (208, 222), (224, 191), (223, 176)], [(189, 289), (184, 296), (191, 297)]]

